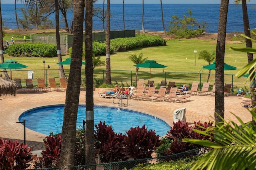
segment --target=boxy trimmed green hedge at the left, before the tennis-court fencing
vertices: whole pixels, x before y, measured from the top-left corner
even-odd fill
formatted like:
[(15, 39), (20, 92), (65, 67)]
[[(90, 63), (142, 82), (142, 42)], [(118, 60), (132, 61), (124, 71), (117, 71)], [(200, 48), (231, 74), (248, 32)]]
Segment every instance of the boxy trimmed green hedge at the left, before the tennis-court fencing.
[(18, 43), (5, 50), (14, 57), (57, 57), (57, 46), (48, 43)]

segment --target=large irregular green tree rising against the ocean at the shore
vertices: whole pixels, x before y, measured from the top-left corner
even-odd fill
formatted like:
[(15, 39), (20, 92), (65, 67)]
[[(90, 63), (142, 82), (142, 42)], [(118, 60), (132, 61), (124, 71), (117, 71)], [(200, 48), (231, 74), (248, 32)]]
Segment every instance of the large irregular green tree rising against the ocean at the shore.
[[(170, 31), (168, 34), (175, 35), (175, 38), (194, 38), (202, 35), (208, 27), (206, 22), (198, 22), (195, 18), (192, 18), (192, 11), (188, 10), (189, 16), (183, 15), (183, 19), (179, 16), (172, 16), (170, 21)], [(196, 27), (196, 29), (194, 29)]]

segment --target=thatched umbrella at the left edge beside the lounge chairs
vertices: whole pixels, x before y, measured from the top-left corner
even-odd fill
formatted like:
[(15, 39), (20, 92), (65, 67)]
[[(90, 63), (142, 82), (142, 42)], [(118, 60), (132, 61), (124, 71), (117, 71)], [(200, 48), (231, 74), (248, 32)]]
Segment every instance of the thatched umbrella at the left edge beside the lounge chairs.
[(0, 78), (0, 96), (2, 95), (16, 96), (16, 83), (12, 80)]

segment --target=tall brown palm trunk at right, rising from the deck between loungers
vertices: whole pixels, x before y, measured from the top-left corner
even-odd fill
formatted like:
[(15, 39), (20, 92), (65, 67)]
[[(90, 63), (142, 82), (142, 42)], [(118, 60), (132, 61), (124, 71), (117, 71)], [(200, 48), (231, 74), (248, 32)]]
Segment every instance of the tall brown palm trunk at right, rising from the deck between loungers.
[[(226, 27), (228, 17), (228, 1), (220, 1), (220, 17), (218, 26), (218, 37), (216, 45), (216, 62), (215, 62), (215, 122), (224, 119), (224, 57), (225, 57), (225, 43), (226, 43)], [(219, 116), (220, 115), (220, 116)]]

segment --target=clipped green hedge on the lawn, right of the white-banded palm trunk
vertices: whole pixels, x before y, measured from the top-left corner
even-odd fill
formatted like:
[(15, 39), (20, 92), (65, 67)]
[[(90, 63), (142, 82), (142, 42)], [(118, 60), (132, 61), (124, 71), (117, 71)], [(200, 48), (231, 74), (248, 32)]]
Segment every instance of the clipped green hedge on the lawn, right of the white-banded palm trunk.
[(115, 38), (110, 41), (115, 52), (127, 51), (139, 47), (153, 47), (166, 45), (166, 40), (156, 35), (140, 35), (138, 37)]

